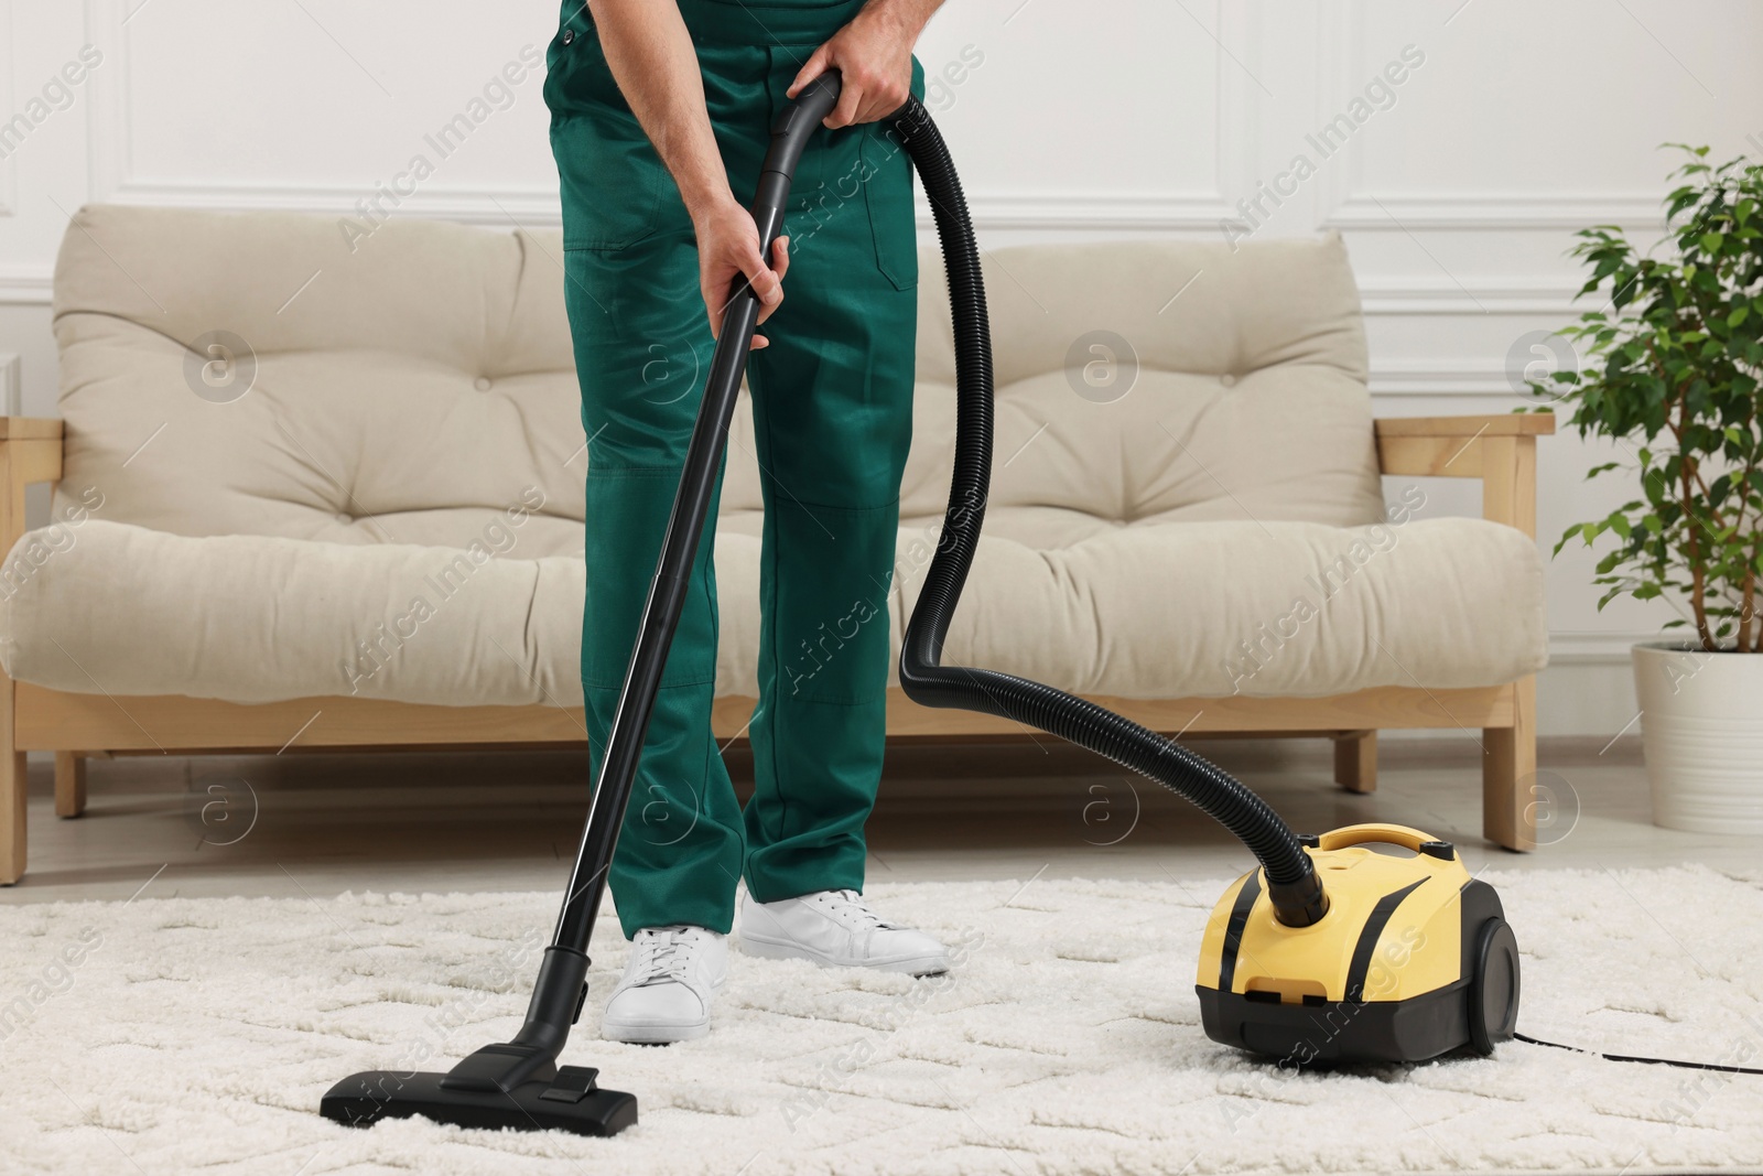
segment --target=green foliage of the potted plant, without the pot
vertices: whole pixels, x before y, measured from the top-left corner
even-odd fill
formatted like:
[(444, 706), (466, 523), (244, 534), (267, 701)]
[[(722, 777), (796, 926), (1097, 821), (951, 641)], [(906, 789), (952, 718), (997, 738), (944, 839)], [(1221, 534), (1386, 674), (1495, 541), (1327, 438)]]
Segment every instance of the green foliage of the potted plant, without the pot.
[(1569, 527), (1555, 552), (1574, 536), (1594, 550), (1604, 603), (1705, 591), (1708, 617), (1733, 631), (1738, 601), (1763, 577), (1763, 166), (1677, 150), (1655, 256), (1617, 226), (1573, 238), (1569, 252), (1592, 279), (1587, 296), (1608, 303), (1560, 331), (1580, 349), (1580, 370), (1537, 383), (1581, 437), (1636, 457), (1585, 476), (1638, 465), (1641, 495)]

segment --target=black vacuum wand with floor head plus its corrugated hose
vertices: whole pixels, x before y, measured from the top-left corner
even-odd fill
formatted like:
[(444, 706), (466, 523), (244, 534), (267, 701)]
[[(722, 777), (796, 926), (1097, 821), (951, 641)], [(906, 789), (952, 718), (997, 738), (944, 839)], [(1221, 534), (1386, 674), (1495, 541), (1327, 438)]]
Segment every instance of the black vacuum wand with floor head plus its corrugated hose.
[[(837, 104), (837, 97), (839, 74), (829, 71), (809, 83), (772, 125), (770, 148), (753, 197), (753, 220), (765, 257), (770, 257), (772, 242), (783, 227), (802, 148)], [(917, 99), (910, 99), (889, 123), (911, 157), (936, 213), (956, 317), (959, 397), (948, 511), (927, 582), (906, 628), (901, 686), (922, 705), (984, 711), (1038, 726), (1186, 797), (1255, 853), (1268, 878), (1268, 897), (1282, 924), (1315, 922), (1328, 910), (1328, 899), (1310, 857), (1273, 809), (1229, 774), (1172, 739), (1051, 686), (993, 670), (940, 665), (943, 638), (986, 518), (993, 450), (991, 335), (978, 247), (948, 150)], [(728, 423), (758, 310), (758, 296), (746, 280), (737, 280), (723, 312), (703, 402), (698, 406), (673, 513), (668, 517), (661, 557), (601, 756), (582, 846), (552, 945), (545, 949), (539, 964), (525, 1023), (513, 1040), (485, 1046), (446, 1074), (368, 1070), (346, 1077), (324, 1095), (321, 1113), (326, 1118), (365, 1127), (383, 1118), (420, 1114), (460, 1127), (562, 1128), (584, 1135), (610, 1135), (636, 1121), (635, 1097), (599, 1090), (594, 1068), (557, 1068), (557, 1056), (587, 1000), (587, 945), (606, 890), (606, 871), (629, 804), (661, 670), (684, 607), (693, 555), (716, 490), (716, 469), (728, 443)]]

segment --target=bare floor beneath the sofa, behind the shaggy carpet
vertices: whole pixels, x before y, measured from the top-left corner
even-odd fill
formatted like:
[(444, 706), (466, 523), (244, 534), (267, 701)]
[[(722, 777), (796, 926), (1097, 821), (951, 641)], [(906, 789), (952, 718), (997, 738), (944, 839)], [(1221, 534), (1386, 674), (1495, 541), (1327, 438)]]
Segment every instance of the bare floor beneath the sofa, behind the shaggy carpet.
[[(1320, 741), (1213, 741), (1195, 749), (1261, 792), (1294, 829), (1365, 820), (1458, 843), (1470, 869), (1604, 869), (1754, 860), (1758, 839), (1650, 822), (1640, 741), (1544, 741), (1543, 845), (1481, 839), (1479, 749), (1463, 737), (1386, 739), (1375, 795), (1331, 783)], [(751, 781), (730, 748), (737, 788)], [(32, 763), (30, 869), (0, 903), (344, 890), (550, 890), (585, 813), (577, 753), (287, 755), (92, 760), (90, 804), (53, 811)], [(1246, 853), (1149, 781), (1049, 739), (890, 749), (869, 822), (869, 876), (889, 882), (1225, 878)]]

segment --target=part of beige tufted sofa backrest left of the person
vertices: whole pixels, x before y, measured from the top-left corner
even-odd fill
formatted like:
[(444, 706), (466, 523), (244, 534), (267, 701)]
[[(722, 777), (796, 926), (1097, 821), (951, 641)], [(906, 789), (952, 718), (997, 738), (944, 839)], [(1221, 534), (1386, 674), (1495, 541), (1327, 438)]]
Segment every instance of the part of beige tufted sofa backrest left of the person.
[[(538, 501), (504, 554), (582, 548), (562, 275), (522, 233), (393, 220), (351, 243), (330, 217), (86, 206), (55, 331), (62, 492), (95, 487), (104, 518), (467, 547)], [(213, 331), (256, 372), (205, 372)]]

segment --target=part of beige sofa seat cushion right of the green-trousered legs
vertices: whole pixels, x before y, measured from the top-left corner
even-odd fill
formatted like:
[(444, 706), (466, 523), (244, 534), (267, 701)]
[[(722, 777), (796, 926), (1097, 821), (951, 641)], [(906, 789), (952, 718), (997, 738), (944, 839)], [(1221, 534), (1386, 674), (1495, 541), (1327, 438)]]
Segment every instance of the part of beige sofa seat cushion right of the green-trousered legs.
[[(1005, 525), (987, 517), (950, 665), (1079, 695), (1289, 698), (1497, 686), (1548, 661), (1536, 543), (1481, 518), (1135, 524), (1047, 547), (996, 513)], [(896, 629), (934, 550), (934, 531), (917, 547), (910, 534)]]

